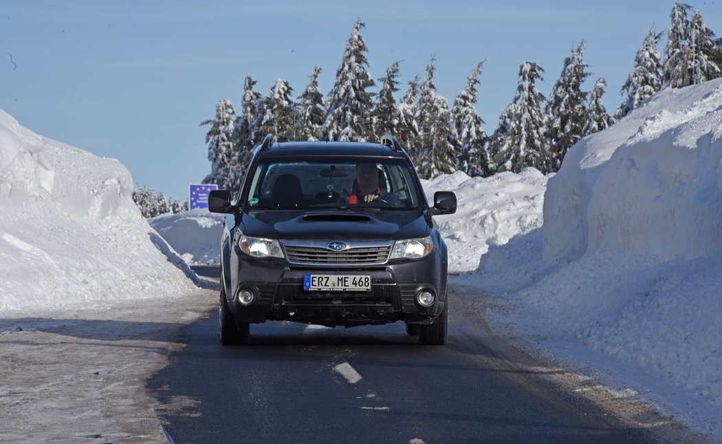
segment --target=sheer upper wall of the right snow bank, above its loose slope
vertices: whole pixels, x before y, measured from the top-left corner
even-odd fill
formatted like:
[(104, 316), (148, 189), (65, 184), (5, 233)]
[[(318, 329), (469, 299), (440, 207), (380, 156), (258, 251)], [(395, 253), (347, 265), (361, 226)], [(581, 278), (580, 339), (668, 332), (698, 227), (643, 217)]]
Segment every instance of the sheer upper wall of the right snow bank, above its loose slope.
[(544, 257), (722, 249), (722, 80), (666, 90), (581, 140), (549, 181)]

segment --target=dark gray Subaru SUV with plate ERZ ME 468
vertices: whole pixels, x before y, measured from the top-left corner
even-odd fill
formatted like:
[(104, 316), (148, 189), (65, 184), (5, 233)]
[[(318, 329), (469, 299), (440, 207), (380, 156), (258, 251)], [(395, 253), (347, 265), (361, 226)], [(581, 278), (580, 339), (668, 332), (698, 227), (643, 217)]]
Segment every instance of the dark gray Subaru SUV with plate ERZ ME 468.
[(253, 153), (221, 239), (220, 340), (248, 343), (249, 324), (403, 321), (419, 342), (448, 328), (446, 244), (432, 215), (456, 211), (453, 192), (430, 206), (409, 155), (382, 143), (271, 142)]

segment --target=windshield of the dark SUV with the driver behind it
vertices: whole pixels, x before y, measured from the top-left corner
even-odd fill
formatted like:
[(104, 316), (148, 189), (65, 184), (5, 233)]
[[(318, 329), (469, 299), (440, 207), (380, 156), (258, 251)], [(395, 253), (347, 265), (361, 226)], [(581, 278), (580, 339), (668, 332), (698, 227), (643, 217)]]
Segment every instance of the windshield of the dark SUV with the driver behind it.
[(269, 158), (243, 197), (253, 209), (418, 210), (416, 179), (399, 158)]

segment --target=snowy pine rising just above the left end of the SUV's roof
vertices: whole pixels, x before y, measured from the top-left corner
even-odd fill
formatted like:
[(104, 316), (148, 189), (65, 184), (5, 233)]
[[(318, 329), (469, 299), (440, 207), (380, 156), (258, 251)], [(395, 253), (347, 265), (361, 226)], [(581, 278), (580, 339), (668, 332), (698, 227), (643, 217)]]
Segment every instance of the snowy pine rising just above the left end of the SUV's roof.
[(258, 126), (258, 132), (264, 137), (272, 134), (276, 142), (295, 140), (297, 111), (290, 97), (292, 91), (288, 82), (282, 79), (277, 79), (271, 87), (271, 93), (264, 101), (264, 116)]

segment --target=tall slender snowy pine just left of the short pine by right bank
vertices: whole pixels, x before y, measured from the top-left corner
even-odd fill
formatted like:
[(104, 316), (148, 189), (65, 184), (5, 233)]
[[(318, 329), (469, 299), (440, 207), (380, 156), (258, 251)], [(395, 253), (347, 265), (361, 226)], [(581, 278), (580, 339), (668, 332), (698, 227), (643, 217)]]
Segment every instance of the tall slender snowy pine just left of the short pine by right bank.
[(562, 166), (567, 150), (582, 137), (586, 123), (588, 93), (582, 91), (581, 87), (589, 73), (586, 71), (588, 65), (582, 60), (583, 52), (583, 41), (570, 51), (544, 110), (553, 171)]

